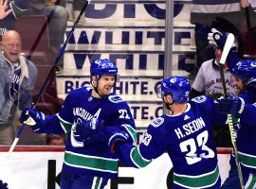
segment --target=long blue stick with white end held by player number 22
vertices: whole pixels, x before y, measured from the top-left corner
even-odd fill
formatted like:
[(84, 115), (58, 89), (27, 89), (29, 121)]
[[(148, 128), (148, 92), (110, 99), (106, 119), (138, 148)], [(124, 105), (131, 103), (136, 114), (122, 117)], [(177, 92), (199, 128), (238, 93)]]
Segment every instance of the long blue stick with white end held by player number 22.
[[(64, 42), (63, 47), (61, 48), (61, 50), (60, 50), (60, 52), (59, 52), (59, 54), (58, 54), (56, 60), (54, 61), (53, 65), (52, 65), (52, 67), (51, 67), (51, 69), (50, 69), (50, 71), (49, 71), (49, 74), (48, 74), (47, 77), (46, 77), (46, 80), (45, 80), (45, 82), (44, 82), (44, 84), (43, 84), (43, 86), (42, 86), (40, 92), (38, 93), (38, 95), (37, 95), (37, 97), (36, 97), (36, 100), (35, 100), (35, 101), (33, 102), (33, 104), (32, 104), (32, 109), (35, 108), (37, 102), (39, 101), (39, 99), (41, 98), (41, 96), (44, 94), (44, 92), (45, 92), (45, 90), (46, 90), (46, 85), (47, 85), (47, 83), (48, 83), (48, 81), (49, 81), (49, 78), (50, 78), (51, 75), (55, 72), (55, 68), (57, 67), (59, 60), (62, 58), (62, 56), (63, 56), (63, 54), (64, 54), (64, 49), (65, 49), (67, 43), (69, 42), (69, 40), (70, 40), (70, 38), (71, 38), (71, 35), (73, 34), (75, 28), (77, 27), (77, 25), (78, 25), (78, 23), (79, 23), (79, 21), (80, 21), (80, 19), (81, 19), (81, 17), (82, 17), (82, 14), (83, 14), (84, 10), (87, 8), (87, 6), (88, 6), (88, 4), (90, 3), (90, 1), (91, 1), (91, 0), (86, 0), (86, 1), (85, 1), (84, 5), (83, 5), (83, 7), (82, 7), (82, 9), (81, 9), (81, 12), (80, 12), (80, 14), (79, 14), (79, 16), (78, 16), (78, 18), (77, 18), (75, 24), (74, 24), (74, 26), (72, 27), (71, 31), (69, 32), (69, 34), (68, 34), (68, 36), (67, 36), (67, 38), (66, 38), (66, 40), (65, 40), (65, 42)], [(20, 139), (21, 133), (22, 133), (23, 129), (25, 129), (25, 126), (26, 126), (26, 124), (23, 123), (22, 126), (21, 126), (21, 128), (19, 129), (19, 131), (18, 131), (18, 133), (17, 133), (17, 135), (16, 135), (16, 137), (15, 137), (15, 139), (14, 139), (12, 145), (11, 145), (10, 148), (9, 148), (8, 157), (10, 156), (10, 154), (11, 154), (11, 152), (13, 151), (14, 147), (17, 145), (17, 143), (18, 143), (18, 141), (19, 141), (19, 139)]]

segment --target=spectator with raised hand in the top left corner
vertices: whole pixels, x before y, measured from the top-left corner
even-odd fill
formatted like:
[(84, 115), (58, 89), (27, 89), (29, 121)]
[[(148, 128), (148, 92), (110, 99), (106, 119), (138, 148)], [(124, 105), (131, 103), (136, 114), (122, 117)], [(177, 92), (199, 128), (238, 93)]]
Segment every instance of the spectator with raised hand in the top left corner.
[[(15, 20), (19, 18), (28, 8), (29, 0), (0, 1), (0, 38), (7, 30), (14, 28)], [(0, 41), (1, 41), (0, 39)]]

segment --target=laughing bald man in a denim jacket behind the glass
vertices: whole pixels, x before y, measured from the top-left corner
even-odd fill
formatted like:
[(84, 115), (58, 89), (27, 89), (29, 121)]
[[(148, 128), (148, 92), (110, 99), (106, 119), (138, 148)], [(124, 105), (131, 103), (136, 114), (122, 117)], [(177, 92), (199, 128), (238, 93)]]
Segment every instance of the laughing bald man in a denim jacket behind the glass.
[(18, 32), (6, 31), (0, 44), (0, 145), (11, 145), (16, 134), (17, 113), (32, 105), (37, 68), (21, 55)]

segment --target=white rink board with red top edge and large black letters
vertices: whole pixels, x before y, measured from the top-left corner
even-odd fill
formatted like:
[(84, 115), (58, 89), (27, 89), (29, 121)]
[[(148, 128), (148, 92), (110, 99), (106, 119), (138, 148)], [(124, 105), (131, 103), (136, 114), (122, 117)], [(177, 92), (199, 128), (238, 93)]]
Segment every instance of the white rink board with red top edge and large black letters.
[[(60, 189), (64, 147), (17, 147), (9, 158), (7, 150), (0, 147), (0, 179), (10, 189)], [(222, 182), (229, 173), (229, 153), (226, 149), (218, 154)], [(119, 178), (109, 181), (106, 189), (171, 188), (172, 166), (167, 153), (140, 169), (119, 164)]]

